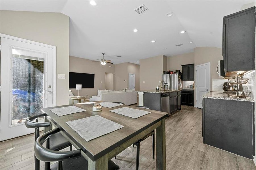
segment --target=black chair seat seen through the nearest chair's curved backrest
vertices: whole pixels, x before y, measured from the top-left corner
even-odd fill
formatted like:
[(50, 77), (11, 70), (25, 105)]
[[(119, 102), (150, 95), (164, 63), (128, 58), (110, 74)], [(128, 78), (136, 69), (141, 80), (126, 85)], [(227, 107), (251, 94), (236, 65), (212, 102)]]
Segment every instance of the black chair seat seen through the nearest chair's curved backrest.
[(61, 132), (55, 133), (50, 136), (50, 149), (51, 150), (61, 150), (68, 146), (71, 146), (71, 143), (66, 139)]

